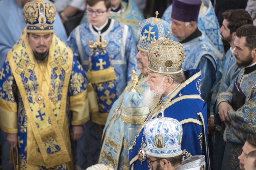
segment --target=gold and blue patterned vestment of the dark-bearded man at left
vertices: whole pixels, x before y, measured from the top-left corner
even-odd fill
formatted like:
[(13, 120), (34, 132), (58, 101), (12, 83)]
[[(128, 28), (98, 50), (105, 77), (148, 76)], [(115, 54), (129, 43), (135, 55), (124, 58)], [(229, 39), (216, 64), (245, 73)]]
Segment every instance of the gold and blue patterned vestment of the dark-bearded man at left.
[(85, 72), (52, 36), (47, 62), (38, 63), (25, 29), (0, 72), (0, 125), (18, 133), (19, 169), (73, 169), (71, 125), (89, 120)]

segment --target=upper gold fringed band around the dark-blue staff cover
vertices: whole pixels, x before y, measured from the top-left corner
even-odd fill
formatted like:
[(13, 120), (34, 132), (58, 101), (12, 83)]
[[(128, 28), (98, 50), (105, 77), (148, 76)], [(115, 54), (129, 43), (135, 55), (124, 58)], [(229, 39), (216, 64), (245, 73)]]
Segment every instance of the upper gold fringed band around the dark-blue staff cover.
[(104, 70), (88, 71), (87, 78), (93, 84), (108, 82), (111, 80), (116, 80), (116, 74), (114, 67), (109, 67)]

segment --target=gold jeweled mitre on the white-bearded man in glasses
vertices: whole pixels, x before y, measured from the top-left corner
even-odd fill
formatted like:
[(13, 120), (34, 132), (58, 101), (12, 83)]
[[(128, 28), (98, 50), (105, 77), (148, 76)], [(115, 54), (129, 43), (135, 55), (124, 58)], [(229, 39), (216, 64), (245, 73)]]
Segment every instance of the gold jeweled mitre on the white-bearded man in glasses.
[(161, 74), (177, 74), (182, 71), (185, 59), (185, 49), (181, 43), (169, 40), (168, 35), (163, 40), (154, 41), (148, 48), (147, 68)]

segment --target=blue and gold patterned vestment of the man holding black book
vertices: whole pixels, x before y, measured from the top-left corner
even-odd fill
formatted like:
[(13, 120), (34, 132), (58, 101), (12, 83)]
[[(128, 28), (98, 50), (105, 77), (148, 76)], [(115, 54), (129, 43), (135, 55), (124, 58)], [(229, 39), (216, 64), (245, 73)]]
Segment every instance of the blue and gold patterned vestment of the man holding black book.
[[(255, 66), (252, 66), (255, 67)], [(256, 134), (256, 70), (244, 74), (245, 69), (239, 72), (236, 81), (245, 94), (245, 103), (237, 111), (228, 111), (231, 123), (225, 123), (224, 141), (226, 142), (222, 169), (240, 169), (238, 156), (242, 153), (242, 147), (247, 134)], [(227, 91), (222, 92), (217, 103), (231, 103), (233, 84)]]

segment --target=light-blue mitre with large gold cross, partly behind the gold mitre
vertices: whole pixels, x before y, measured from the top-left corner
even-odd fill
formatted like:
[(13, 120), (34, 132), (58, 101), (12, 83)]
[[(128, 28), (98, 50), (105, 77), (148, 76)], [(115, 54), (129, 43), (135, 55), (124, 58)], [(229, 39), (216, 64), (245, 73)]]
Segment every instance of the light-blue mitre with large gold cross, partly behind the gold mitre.
[[(148, 51), (148, 47), (153, 41), (164, 39), (170, 32), (170, 24), (161, 18), (156, 17), (144, 19), (139, 26), (139, 43), (138, 49), (144, 52)], [(169, 30), (169, 32), (168, 32)]]

